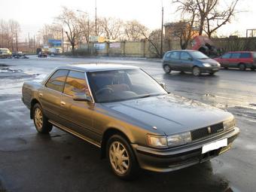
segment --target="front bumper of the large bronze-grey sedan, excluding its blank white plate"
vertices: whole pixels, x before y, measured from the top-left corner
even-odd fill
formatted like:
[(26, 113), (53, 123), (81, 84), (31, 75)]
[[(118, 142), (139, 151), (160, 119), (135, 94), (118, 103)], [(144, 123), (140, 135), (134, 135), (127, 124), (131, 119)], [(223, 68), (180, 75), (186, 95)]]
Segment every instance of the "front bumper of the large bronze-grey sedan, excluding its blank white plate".
[[(222, 133), (203, 141), (193, 142), (190, 145), (176, 148), (154, 149), (135, 144), (132, 146), (142, 169), (148, 169), (154, 172), (171, 172), (197, 163), (203, 163), (206, 160), (210, 160), (213, 157), (228, 151), (238, 135), (239, 128), (234, 127), (227, 133)], [(227, 147), (218, 148), (206, 152), (206, 154), (202, 154), (203, 145), (226, 138)]]

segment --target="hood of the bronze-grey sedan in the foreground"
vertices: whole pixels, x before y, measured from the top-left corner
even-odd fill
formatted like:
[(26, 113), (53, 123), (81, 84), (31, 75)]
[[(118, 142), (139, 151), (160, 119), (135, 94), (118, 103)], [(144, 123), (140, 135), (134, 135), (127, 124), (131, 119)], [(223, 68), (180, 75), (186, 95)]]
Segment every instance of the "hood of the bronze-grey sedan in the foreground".
[(195, 130), (233, 117), (227, 111), (173, 94), (102, 105), (114, 110), (119, 117), (144, 124), (149, 130), (157, 126), (157, 130), (166, 135)]

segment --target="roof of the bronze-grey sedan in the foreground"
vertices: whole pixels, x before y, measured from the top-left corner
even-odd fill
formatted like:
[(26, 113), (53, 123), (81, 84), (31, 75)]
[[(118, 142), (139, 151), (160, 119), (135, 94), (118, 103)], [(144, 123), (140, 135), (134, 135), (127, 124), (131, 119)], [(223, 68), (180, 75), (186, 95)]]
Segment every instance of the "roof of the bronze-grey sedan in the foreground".
[(126, 66), (126, 65), (120, 65), (120, 64), (81, 63), (81, 64), (75, 64), (75, 65), (69, 65), (69, 66), (60, 66), (57, 69), (78, 70), (83, 72), (102, 72), (102, 71), (119, 70), (119, 69), (139, 69), (139, 67)]

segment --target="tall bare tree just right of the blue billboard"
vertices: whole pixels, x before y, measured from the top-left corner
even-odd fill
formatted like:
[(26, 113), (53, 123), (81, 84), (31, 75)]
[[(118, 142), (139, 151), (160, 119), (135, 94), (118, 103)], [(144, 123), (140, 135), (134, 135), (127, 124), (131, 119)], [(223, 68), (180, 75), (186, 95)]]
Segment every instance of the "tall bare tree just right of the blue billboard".
[(76, 16), (74, 11), (63, 7), (62, 14), (60, 14), (59, 17), (56, 17), (56, 19), (59, 20), (59, 22), (62, 23), (63, 28), (66, 29), (65, 32), (72, 46), (72, 54), (74, 55), (75, 45), (78, 44), (78, 38), (81, 34), (78, 17)]

